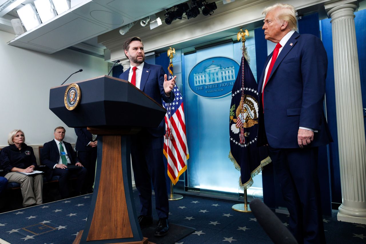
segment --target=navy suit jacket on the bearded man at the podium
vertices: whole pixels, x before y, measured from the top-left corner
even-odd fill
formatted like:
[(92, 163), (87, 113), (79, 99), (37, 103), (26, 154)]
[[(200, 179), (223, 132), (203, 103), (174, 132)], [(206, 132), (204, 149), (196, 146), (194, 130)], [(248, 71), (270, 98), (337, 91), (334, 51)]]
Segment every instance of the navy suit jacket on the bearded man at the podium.
[[(128, 80), (128, 73), (130, 68), (124, 71), (119, 78)], [(144, 63), (142, 68), (140, 90), (153, 98), (158, 104), (163, 105), (162, 100), (169, 103), (174, 100), (174, 93), (170, 93), (170, 97), (167, 97), (164, 92), (164, 75), (163, 67), (160, 65)], [(157, 128), (146, 128), (153, 136), (165, 135), (165, 120), (163, 119)]]

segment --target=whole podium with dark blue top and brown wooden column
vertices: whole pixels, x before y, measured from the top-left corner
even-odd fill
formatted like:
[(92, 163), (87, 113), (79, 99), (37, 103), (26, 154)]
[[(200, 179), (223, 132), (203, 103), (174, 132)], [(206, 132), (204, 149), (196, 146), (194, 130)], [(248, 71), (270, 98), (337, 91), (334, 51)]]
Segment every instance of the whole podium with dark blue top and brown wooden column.
[(158, 127), (166, 110), (129, 82), (99, 76), (75, 82), (78, 106), (64, 104), (68, 85), (52, 87), (49, 108), (68, 127), (87, 127), (98, 135), (93, 198), (85, 229), (74, 243), (147, 244), (137, 221), (132, 195), (130, 135)]

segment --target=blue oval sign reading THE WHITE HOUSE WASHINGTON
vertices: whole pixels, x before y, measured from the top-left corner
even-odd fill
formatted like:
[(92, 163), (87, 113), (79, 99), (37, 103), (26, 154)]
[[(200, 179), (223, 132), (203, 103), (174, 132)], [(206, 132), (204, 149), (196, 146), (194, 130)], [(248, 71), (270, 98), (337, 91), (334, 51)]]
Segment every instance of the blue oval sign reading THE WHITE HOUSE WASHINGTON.
[(202, 97), (221, 97), (231, 92), (239, 64), (228, 57), (212, 57), (196, 64), (189, 74), (191, 90)]

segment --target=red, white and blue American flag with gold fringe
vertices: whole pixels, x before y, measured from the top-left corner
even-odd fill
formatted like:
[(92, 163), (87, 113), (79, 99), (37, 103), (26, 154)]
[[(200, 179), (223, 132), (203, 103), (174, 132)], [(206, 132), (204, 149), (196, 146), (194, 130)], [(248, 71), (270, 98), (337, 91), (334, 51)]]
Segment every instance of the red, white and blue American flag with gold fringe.
[[(168, 66), (168, 80), (173, 79), (173, 64)], [(187, 147), (186, 121), (184, 120), (183, 97), (177, 86), (174, 87), (174, 101), (167, 104), (165, 115), (166, 134), (164, 138), (163, 153), (168, 160), (168, 176), (173, 184), (179, 180), (179, 176), (187, 169), (189, 158)]]

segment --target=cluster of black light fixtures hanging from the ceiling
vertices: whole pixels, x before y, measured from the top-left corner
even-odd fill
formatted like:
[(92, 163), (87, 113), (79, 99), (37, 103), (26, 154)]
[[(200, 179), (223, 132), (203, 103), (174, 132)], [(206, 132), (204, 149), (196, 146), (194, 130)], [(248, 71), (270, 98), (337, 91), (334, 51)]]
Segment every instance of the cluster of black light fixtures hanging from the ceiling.
[(183, 13), (186, 14), (187, 19), (196, 18), (200, 9), (202, 9), (203, 15), (212, 15), (217, 6), (215, 2), (208, 3), (206, 0), (192, 0), (190, 6), (187, 3), (181, 3), (165, 10), (167, 11), (165, 13), (165, 23), (170, 25), (175, 19), (185, 18)]

